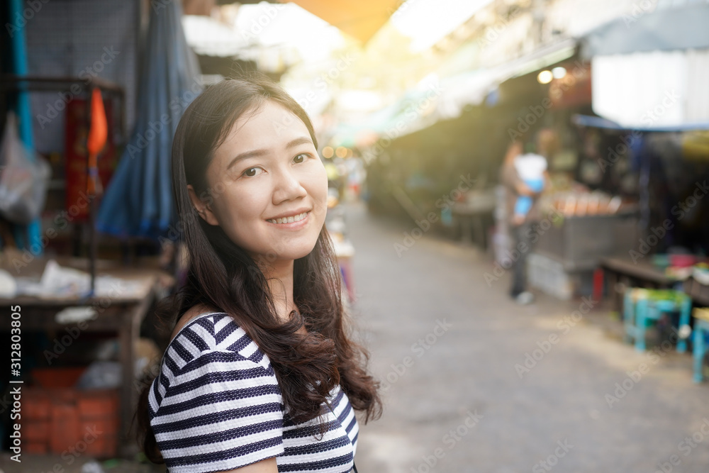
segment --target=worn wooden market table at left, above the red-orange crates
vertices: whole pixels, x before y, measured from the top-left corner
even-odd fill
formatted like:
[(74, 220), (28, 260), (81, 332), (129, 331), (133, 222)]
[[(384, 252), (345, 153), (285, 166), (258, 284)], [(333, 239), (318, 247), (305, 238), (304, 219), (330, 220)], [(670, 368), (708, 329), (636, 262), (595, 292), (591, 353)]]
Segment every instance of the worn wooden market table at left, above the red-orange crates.
[[(79, 267), (85, 269), (85, 267)], [(97, 276), (106, 274), (112, 277), (140, 282), (140, 289), (135, 294), (110, 294), (109, 296), (79, 299), (78, 297), (35, 297), (18, 296), (13, 299), (0, 299), (0, 306), (9, 317), (10, 306), (21, 306), (23, 333), (31, 330), (62, 330), (77, 323), (60, 323), (55, 316), (62, 309), (72, 306), (93, 307), (96, 316), (93, 320), (81, 323), (86, 332), (116, 332), (119, 340), (119, 360), (122, 367), (121, 396), (121, 445), (130, 438), (130, 421), (135, 413), (138, 389), (135, 383), (135, 343), (140, 337), (140, 323), (159, 294), (158, 289), (166, 280), (172, 278), (167, 273), (156, 269), (99, 267)], [(25, 274), (22, 274), (25, 275)], [(162, 284), (159, 284), (162, 282)], [(0, 331), (8, 331), (9, 323), (1, 323)], [(81, 335), (79, 335), (80, 337)], [(52, 346), (54, 344), (52, 343)], [(61, 355), (60, 355), (61, 356)], [(26, 375), (27, 373), (24, 373)]]

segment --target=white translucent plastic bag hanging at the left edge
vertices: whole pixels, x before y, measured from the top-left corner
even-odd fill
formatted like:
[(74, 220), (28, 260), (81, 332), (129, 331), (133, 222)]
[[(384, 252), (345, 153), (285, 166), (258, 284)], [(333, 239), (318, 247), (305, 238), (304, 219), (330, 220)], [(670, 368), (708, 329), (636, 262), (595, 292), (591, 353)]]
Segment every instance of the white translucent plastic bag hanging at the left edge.
[(51, 168), (28, 150), (17, 134), (17, 120), (8, 112), (0, 148), (0, 213), (13, 223), (27, 225), (40, 215), (47, 198)]

